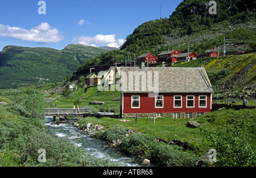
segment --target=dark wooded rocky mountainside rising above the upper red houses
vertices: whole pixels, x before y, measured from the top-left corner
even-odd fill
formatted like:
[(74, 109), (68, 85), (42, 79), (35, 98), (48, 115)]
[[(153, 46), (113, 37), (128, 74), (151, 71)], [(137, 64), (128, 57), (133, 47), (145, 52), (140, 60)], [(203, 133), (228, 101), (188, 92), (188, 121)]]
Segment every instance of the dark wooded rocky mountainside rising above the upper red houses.
[[(223, 44), (229, 39), (255, 40), (255, 1), (216, 0), (217, 14), (209, 14), (204, 0), (187, 0), (177, 6), (170, 18), (145, 22), (127, 36), (121, 50), (137, 55), (150, 51), (157, 55), (167, 48), (186, 52), (187, 45), (196, 53)], [(246, 49), (254, 48), (249, 44)], [(229, 50), (233, 50), (229, 48)]]

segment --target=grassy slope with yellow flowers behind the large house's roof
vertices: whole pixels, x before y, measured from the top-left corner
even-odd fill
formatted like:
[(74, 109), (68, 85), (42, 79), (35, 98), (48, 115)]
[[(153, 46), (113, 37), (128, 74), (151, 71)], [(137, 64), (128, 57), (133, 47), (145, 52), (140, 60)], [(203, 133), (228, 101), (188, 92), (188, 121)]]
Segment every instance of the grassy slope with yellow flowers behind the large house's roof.
[(204, 67), (215, 92), (242, 94), (246, 86), (256, 86), (255, 53), (179, 62), (173, 67)]

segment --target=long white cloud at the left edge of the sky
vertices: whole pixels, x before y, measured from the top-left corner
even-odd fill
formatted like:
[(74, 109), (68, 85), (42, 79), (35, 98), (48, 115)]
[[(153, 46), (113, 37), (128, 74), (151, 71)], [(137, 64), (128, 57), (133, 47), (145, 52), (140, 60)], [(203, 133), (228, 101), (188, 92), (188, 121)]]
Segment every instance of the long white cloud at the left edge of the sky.
[(48, 23), (27, 30), (25, 28), (10, 27), (0, 23), (0, 37), (16, 38), (23, 41), (38, 43), (55, 43), (63, 39), (63, 35), (57, 28), (52, 28)]

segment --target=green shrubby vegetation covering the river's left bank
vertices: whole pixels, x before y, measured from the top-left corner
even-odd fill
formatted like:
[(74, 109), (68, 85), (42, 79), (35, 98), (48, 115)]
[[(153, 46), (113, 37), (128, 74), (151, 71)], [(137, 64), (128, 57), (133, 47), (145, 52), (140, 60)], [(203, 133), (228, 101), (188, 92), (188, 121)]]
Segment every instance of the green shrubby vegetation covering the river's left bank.
[[(118, 166), (108, 158), (96, 158), (84, 149), (47, 131), (45, 100), (31, 90), (0, 90), (0, 167)], [(39, 162), (39, 149), (46, 162)]]

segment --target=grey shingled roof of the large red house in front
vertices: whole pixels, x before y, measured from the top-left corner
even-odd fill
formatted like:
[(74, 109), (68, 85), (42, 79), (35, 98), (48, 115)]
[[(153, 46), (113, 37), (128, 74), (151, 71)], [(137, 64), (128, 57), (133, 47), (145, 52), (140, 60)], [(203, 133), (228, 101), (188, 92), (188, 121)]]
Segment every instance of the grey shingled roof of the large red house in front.
[[(213, 92), (204, 68), (146, 67), (141, 69), (139, 67), (121, 67), (120, 71), (121, 82), (123, 82), (121, 92), (125, 93)], [(150, 73), (152, 74), (152, 80), (148, 80), (149, 82), (147, 82), (147, 76), (150, 76)], [(127, 76), (126, 82), (125, 75)], [(136, 79), (136, 77), (139, 79)], [(156, 82), (154, 82), (155, 77), (158, 79)], [(131, 78), (133, 78), (133, 80)], [(148, 88), (147, 83), (152, 85), (153, 88)], [(155, 90), (154, 86), (157, 86), (157, 83), (158, 89)]]

